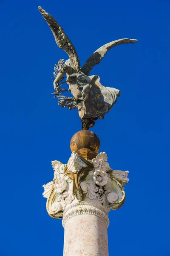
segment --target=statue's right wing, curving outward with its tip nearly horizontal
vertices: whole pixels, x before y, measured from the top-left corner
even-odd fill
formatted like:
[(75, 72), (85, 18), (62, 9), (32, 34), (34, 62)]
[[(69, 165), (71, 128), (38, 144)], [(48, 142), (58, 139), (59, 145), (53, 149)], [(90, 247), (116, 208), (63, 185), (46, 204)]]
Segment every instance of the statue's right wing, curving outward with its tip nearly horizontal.
[(115, 40), (112, 41), (108, 44), (103, 45), (102, 47), (100, 47), (99, 49), (96, 50), (96, 52), (94, 52), (89, 58), (88, 60), (85, 62), (85, 64), (82, 66), (82, 68), (80, 69), (85, 75), (89, 75), (91, 69), (96, 65), (99, 64), (99, 62), (102, 60), (102, 58), (105, 57), (106, 53), (113, 48), (116, 45), (119, 44), (129, 44), (132, 43), (134, 44), (135, 42), (137, 42), (138, 40), (136, 39), (129, 39), (129, 38), (122, 38), (119, 40)]

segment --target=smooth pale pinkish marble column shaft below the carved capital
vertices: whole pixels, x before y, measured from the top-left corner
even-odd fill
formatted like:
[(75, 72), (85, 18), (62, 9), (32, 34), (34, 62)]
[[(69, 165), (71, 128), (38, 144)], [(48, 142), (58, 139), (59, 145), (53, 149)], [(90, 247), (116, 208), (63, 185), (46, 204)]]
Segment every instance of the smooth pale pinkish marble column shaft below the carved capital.
[(64, 225), (64, 256), (108, 256), (107, 227), (108, 223), (98, 215), (80, 214), (68, 218)]

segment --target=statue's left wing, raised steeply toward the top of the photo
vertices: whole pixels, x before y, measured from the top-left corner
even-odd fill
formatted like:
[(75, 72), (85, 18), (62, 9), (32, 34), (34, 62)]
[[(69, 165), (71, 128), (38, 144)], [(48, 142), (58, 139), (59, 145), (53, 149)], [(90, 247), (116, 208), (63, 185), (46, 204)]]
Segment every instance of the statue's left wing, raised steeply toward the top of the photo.
[(45, 12), (45, 10), (43, 10), (40, 6), (38, 7), (38, 9), (41, 12), (42, 17), (48, 23), (51, 31), (53, 32), (53, 35), (58, 47), (63, 49), (65, 52), (67, 52), (70, 58), (72, 67), (74, 67), (75, 70), (79, 71), (79, 68), (80, 68), (79, 57), (74, 48), (74, 45), (69, 40), (68, 36), (65, 35), (64, 29), (62, 29), (62, 27), (59, 26), (59, 23), (57, 23), (57, 21), (48, 12)]

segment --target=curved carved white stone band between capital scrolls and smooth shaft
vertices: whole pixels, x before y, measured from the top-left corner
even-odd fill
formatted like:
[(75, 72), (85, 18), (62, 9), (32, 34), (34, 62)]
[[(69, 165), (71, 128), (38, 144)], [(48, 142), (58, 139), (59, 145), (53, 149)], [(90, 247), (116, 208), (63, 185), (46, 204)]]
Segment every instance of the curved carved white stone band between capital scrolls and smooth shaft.
[(108, 211), (99, 204), (89, 203), (89, 202), (79, 202), (78, 204), (74, 204), (68, 207), (63, 213), (62, 226), (65, 227), (66, 221), (69, 218), (72, 218), (76, 215), (80, 214), (91, 214), (96, 215), (102, 218), (108, 227), (109, 219), (108, 219)]

